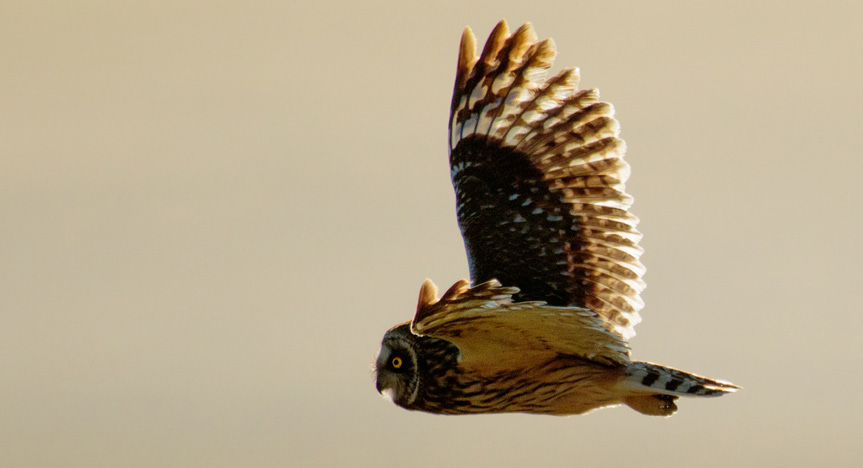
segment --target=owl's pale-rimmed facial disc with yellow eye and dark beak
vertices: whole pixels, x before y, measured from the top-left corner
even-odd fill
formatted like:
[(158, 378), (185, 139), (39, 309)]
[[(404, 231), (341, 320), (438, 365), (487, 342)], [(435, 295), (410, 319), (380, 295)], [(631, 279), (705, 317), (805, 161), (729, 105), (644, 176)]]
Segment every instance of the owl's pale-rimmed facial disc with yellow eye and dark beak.
[(416, 335), (410, 324), (399, 325), (384, 335), (375, 362), (377, 389), (397, 405), (409, 407), (416, 400), (420, 386)]

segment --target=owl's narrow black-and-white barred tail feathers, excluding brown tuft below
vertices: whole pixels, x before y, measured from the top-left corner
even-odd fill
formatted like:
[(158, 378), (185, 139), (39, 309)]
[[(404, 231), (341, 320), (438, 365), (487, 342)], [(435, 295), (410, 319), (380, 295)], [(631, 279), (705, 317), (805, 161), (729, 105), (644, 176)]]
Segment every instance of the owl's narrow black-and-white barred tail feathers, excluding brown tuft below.
[(637, 393), (687, 397), (717, 397), (736, 392), (740, 388), (730, 382), (641, 361), (627, 366), (626, 378), (621, 382), (621, 386)]

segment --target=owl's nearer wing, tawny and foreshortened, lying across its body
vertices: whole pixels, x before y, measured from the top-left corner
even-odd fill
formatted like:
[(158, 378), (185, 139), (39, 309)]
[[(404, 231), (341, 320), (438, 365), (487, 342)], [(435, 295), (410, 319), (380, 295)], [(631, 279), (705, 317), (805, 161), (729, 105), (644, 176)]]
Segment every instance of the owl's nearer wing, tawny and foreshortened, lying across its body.
[(626, 364), (626, 341), (605, 327), (595, 312), (541, 301), (513, 302), (518, 288), (489, 281), (454, 284), (442, 298), (426, 280), (420, 288), (411, 331), (447, 340), (459, 348), (461, 364), (486, 371), (511, 369), (508, 361), (566, 354), (603, 364)]

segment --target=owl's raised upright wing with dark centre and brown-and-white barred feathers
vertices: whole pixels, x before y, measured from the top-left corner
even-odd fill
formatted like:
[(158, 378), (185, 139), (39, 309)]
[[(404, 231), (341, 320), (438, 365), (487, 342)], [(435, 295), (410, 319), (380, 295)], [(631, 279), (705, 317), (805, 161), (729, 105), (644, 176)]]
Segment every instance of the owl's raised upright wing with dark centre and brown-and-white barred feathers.
[(612, 106), (577, 90), (577, 69), (545, 79), (555, 53), (530, 24), (510, 35), (501, 21), (479, 57), (470, 28), (462, 36), (449, 147), (471, 279), (590, 309), (626, 339), (644, 267), (625, 144)]

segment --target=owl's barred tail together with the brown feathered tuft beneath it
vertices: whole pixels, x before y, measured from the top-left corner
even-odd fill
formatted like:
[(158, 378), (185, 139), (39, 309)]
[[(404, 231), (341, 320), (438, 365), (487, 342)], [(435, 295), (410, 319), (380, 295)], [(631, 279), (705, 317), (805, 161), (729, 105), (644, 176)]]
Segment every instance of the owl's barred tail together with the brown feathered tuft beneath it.
[(674, 400), (681, 396), (717, 397), (740, 387), (670, 367), (636, 361), (627, 366), (620, 388), (629, 396), (623, 402), (639, 413), (670, 416), (677, 411)]

